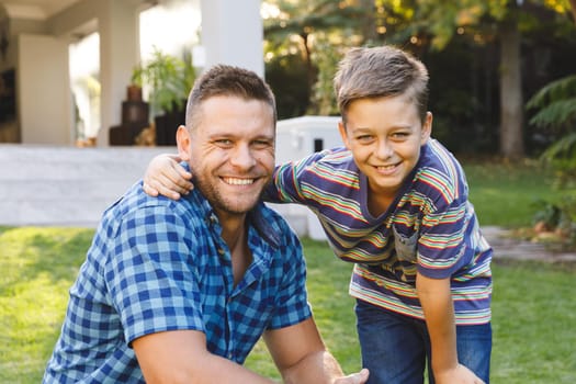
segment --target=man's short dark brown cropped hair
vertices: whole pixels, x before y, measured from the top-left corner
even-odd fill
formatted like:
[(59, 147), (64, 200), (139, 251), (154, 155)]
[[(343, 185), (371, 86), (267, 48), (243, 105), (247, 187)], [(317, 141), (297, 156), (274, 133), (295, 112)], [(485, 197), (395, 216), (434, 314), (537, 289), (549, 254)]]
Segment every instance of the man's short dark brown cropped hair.
[(185, 115), (185, 125), (189, 129), (200, 123), (202, 102), (218, 95), (263, 101), (272, 109), (274, 124), (276, 123), (274, 93), (264, 80), (248, 69), (216, 65), (202, 74), (190, 91)]

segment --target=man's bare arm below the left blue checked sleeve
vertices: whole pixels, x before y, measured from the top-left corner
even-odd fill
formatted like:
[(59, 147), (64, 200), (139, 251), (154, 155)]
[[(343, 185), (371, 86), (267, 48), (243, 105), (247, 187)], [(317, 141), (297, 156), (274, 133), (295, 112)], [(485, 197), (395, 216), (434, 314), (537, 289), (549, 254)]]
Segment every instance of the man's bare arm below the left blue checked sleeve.
[(196, 330), (177, 330), (137, 338), (133, 348), (147, 383), (273, 383), (206, 350)]

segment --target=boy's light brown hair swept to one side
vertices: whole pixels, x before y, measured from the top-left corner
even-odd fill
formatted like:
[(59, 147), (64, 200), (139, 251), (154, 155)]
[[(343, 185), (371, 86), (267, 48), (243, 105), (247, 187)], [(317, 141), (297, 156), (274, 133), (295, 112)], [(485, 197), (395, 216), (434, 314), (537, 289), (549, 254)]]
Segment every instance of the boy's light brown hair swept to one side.
[(350, 49), (339, 64), (334, 89), (345, 123), (352, 101), (400, 94), (408, 97), (416, 104), (420, 120), (426, 120), (428, 70), (421, 61), (396, 47)]

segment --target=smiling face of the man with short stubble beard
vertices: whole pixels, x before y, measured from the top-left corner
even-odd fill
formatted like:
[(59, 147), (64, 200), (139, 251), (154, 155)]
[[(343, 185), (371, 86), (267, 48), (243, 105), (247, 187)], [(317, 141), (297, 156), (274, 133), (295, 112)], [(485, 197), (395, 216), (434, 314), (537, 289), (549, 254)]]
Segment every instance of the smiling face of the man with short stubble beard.
[(218, 214), (244, 215), (257, 204), (274, 170), (274, 134), (272, 108), (237, 97), (205, 100), (200, 124), (180, 127), (180, 156)]

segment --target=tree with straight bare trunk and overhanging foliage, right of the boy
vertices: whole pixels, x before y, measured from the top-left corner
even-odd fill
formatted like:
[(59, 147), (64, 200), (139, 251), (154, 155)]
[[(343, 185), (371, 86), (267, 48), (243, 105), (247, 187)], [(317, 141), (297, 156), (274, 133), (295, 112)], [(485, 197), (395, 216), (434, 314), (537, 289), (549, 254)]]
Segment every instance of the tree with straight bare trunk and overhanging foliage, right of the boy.
[(394, 15), (392, 41), (410, 38), (415, 47), (430, 44), (432, 49), (443, 49), (456, 33), (471, 33), (474, 39), (499, 42), (500, 153), (511, 159), (523, 157), (521, 31), (534, 25), (533, 20), (542, 9), (565, 15), (569, 9), (567, 0), (413, 0), (402, 4), (377, 0), (376, 3)]

